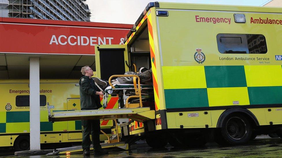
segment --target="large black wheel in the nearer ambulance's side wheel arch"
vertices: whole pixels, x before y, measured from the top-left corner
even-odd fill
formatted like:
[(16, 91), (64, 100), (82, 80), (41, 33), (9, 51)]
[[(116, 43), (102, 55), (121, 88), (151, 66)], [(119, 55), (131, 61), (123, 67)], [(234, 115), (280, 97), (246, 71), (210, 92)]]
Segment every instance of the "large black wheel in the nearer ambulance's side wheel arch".
[(243, 144), (252, 137), (252, 126), (250, 121), (241, 114), (230, 114), (223, 120), (222, 127), (219, 129), (218, 139), (220, 143)]

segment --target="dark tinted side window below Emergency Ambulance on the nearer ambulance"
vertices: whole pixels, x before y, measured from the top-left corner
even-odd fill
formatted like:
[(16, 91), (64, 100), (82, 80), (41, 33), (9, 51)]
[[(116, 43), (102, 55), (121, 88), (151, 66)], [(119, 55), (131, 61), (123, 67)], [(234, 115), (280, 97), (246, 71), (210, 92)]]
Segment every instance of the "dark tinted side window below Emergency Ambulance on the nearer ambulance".
[(218, 51), (222, 54), (266, 54), (264, 35), (218, 34)]

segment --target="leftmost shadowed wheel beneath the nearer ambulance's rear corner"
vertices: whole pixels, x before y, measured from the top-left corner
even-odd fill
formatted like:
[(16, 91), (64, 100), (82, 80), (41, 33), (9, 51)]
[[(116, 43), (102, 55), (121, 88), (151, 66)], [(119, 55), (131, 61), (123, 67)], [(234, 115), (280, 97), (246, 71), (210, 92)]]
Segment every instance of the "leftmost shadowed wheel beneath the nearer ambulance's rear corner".
[(147, 135), (145, 139), (147, 144), (152, 148), (164, 148), (168, 143), (164, 134)]

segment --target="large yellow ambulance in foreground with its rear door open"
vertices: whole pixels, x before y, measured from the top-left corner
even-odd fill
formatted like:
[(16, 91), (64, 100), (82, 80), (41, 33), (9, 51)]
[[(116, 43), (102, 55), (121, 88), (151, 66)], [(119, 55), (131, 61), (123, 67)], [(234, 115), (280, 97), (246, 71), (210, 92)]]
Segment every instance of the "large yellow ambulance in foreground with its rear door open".
[(281, 137), (281, 35), (281, 8), (152, 2), (123, 45), (96, 45), (97, 77), (152, 68), (154, 119), (127, 129), (151, 147)]

